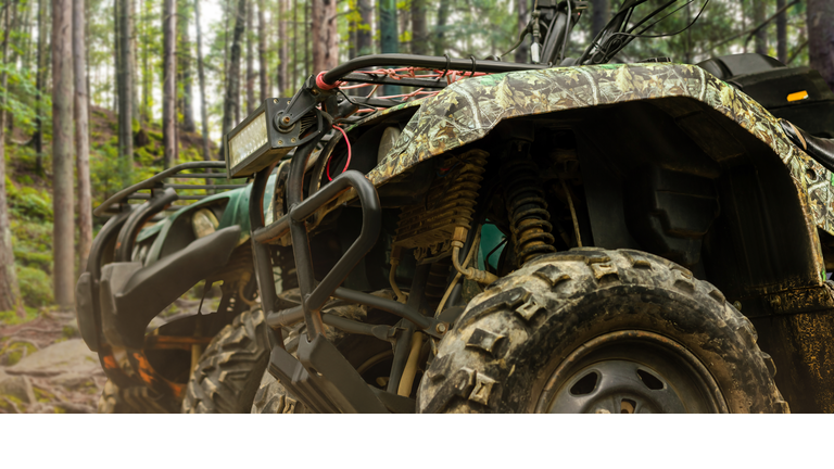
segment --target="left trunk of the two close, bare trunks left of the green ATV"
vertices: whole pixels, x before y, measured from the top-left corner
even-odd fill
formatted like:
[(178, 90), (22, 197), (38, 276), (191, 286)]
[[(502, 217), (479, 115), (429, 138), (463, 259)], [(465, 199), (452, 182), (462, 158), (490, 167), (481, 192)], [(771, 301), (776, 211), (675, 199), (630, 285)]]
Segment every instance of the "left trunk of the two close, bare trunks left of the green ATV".
[(73, 307), (73, 2), (52, 0), (52, 252), (55, 303)]

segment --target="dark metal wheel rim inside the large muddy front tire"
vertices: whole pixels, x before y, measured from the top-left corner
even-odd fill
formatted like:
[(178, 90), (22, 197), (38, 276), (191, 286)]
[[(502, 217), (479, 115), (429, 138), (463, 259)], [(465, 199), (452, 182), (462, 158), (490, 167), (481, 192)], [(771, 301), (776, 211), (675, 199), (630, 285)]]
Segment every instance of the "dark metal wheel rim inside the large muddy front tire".
[(536, 411), (551, 414), (726, 413), (704, 364), (675, 341), (617, 331), (586, 342), (551, 375)]

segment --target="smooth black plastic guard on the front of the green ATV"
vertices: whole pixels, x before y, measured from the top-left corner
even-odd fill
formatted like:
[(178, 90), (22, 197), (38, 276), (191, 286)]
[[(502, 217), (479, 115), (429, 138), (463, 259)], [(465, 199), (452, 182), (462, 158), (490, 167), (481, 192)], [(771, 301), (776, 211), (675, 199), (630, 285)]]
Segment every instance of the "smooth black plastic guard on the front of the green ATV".
[(104, 266), (99, 301), (108, 342), (141, 348), (151, 319), (198, 281), (226, 265), (239, 240), (240, 227), (232, 226), (193, 241), (148, 267), (141, 263)]

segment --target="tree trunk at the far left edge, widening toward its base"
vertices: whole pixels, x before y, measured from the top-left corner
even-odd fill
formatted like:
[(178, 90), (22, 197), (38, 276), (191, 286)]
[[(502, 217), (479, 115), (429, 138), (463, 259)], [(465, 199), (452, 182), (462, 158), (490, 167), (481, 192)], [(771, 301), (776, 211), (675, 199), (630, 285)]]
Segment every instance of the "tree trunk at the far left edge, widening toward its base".
[[(43, 0), (41, 0), (42, 2)], [(41, 27), (38, 34), (42, 34), (43, 18), (39, 15)], [(9, 56), (9, 10), (5, 11), (3, 31), (2, 54), (5, 63)], [(40, 58), (40, 55), (38, 55)], [(0, 72), (0, 310), (15, 310), (17, 316), (26, 317), (21, 301), (21, 290), (17, 286), (17, 275), (14, 270), (14, 251), (12, 250), (12, 230), (9, 224), (9, 203), (5, 198), (5, 89), (9, 83), (9, 76), (5, 69)]]

